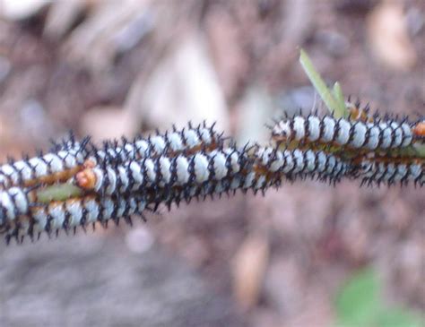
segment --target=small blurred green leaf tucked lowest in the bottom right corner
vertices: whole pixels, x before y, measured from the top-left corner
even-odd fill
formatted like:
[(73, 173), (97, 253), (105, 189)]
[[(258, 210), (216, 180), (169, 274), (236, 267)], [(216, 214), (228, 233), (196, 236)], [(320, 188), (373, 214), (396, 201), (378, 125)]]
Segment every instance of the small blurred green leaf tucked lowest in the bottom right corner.
[(377, 315), (378, 327), (421, 327), (425, 322), (400, 308), (385, 308)]

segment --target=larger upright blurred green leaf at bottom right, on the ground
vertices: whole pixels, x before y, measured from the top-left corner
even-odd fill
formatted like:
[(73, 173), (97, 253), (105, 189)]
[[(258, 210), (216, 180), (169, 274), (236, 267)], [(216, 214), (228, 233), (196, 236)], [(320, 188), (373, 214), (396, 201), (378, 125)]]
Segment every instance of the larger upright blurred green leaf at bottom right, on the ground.
[(336, 314), (344, 326), (370, 326), (381, 310), (380, 285), (374, 271), (359, 271), (336, 297)]

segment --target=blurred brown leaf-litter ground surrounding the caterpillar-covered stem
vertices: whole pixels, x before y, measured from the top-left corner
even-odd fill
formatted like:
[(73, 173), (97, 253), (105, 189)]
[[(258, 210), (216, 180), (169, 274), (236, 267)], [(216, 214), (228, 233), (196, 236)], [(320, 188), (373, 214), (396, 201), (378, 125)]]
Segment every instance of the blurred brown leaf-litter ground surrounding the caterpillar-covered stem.
[[(299, 62), (424, 115), (423, 0), (0, 0), (0, 159), (188, 120), (265, 141)], [(425, 193), (312, 181), (0, 245), (0, 326), (420, 326)]]

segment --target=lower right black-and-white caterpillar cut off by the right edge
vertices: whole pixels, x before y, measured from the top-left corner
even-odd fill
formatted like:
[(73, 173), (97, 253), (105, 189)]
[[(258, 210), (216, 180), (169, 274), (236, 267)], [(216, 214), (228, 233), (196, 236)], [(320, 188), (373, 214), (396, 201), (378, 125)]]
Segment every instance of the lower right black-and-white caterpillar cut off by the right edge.
[(420, 159), (383, 157), (361, 159), (353, 175), (361, 179), (361, 185), (383, 183), (407, 185), (412, 182), (422, 187), (425, 184), (424, 162)]

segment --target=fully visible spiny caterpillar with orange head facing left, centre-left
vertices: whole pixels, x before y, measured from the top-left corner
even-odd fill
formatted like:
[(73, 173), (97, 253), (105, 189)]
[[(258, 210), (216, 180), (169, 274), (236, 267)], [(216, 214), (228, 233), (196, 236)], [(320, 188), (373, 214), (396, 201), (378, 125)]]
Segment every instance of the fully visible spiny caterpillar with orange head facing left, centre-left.
[(75, 176), (75, 184), (100, 194), (125, 194), (147, 187), (201, 185), (220, 180), (240, 169), (241, 153), (236, 149), (198, 152), (192, 156), (179, 154), (169, 158), (144, 158), (124, 164), (86, 168)]

